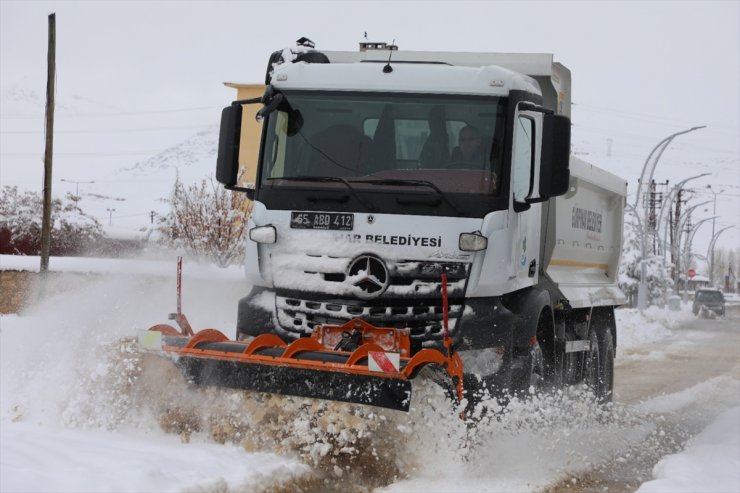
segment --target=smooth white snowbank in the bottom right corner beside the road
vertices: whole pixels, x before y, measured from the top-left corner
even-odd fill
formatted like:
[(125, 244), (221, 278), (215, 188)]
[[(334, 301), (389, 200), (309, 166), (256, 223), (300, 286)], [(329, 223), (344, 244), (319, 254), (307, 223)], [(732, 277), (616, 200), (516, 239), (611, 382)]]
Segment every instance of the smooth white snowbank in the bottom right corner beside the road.
[(653, 468), (654, 480), (638, 493), (740, 491), (740, 407), (720, 414), (686, 448)]

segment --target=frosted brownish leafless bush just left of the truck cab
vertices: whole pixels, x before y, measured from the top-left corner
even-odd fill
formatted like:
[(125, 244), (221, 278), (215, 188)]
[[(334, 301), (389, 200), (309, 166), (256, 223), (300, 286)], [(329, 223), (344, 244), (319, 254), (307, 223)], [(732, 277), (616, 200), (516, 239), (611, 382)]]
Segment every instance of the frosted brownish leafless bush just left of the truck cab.
[(169, 244), (226, 267), (244, 256), (252, 202), (213, 178), (185, 186), (178, 176), (170, 194), (170, 213), (159, 228)]

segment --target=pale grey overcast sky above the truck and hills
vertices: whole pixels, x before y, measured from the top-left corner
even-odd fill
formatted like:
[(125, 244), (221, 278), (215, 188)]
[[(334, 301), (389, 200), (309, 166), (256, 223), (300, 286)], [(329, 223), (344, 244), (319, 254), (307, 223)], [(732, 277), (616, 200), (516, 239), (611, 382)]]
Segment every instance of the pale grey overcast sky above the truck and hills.
[[(614, 152), (639, 169), (663, 137), (707, 125), (676, 139), (656, 178), (690, 176), (670, 167), (701, 151), (706, 159), (696, 160), (704, 166), (724, 159), (735, 168), (713, 178), (731, 187), (723, 200), (740, 194), (738, 0), (0, 0), (3, 91), (20, 83), (43, 94), (51, 12), (58, 98), (75, 95), (124, 111), (217, 109), (234, 95), (222, 82), (263, 82), (269, 54), (301, 36), (332, 50), (356, 50), (367, 32), (406, 50), (554, 53), (572, 72), (576, 149), (605, 151), (611, 139)], [(217, 123), (218, 111), (178, 118)], [(735, 216), (726, 223), (738, 222), (738, 204), (725, 204)]]

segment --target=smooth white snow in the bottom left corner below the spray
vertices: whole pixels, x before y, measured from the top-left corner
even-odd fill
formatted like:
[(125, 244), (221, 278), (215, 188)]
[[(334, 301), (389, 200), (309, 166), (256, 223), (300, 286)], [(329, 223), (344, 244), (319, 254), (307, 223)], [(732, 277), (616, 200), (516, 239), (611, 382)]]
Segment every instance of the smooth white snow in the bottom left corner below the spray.
[(3, 422), (0, 457), (0, 491), (8, 492), (249, 491), (307, 469), (289, 458), (247, 453), (235, 445), (34, 423)]

